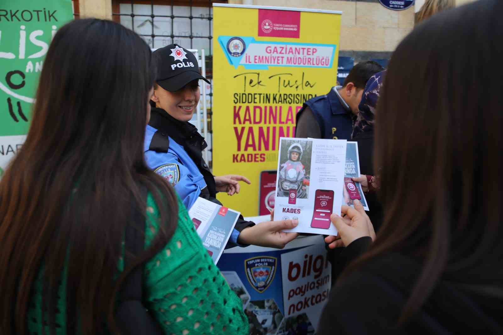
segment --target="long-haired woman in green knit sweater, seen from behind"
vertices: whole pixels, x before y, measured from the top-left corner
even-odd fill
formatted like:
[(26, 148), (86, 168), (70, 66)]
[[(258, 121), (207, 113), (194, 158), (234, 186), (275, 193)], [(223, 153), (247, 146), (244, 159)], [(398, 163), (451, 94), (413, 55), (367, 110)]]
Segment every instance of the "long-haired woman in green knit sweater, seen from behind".
[(2, 335), (117, 333), (136, 210), (145, 251), (133, 265), (164, 333), (248, 332), (184, 205), (145, 165), (153, 79), (148, 46), (119, 24), (76, 20), (54, 36), (26, 142), (0, 182)]

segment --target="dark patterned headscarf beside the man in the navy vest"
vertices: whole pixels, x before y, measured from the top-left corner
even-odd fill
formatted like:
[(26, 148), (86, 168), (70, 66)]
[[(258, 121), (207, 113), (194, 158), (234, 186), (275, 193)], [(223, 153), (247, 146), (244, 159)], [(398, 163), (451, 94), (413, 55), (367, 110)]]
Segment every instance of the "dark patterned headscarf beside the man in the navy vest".
[(385, 73), (385, 70), (378, 72), (367, 81), (362, 101), (358, 105), (358, 117), (355, 121), (351, 138), (354, 138), (359, 133), (366, 133), (374, 129), (374, 114)]

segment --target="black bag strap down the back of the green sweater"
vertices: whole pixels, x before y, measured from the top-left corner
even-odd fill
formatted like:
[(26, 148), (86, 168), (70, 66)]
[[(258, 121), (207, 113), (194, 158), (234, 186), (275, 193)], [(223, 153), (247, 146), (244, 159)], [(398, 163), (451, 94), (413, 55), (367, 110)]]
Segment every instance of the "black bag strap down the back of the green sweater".
[[(142, 199), (147, 199), (147, 188), (141, 187)], [(131, 206), (136, 208), (136, 206)], [(134, 209), (134, 224), (129, 224), (125, 231), (124, 269), (134, 261), (135, 256), (144, 249), (145, 216)], [(115, 314), (115, 320), (122, 334), (130, 335), (161, 335), (157, 321), (148, 313), (142, 304), (143, 296), (143, 266), (136, 267), (126, 278), (120, 292), (120, 304)]]

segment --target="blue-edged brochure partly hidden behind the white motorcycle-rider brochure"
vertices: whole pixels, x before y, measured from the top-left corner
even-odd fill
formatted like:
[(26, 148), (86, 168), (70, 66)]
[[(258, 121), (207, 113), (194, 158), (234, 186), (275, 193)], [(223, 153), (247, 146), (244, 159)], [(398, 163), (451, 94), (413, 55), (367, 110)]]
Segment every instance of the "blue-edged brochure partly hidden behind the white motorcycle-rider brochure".
[(358, 156), (358, 142), (347, 142), (346, 167), (344, 169), (344, 187), (342, 204), (355, 207), (353, 201), (360, 200), (363, 208), (368, 211), (369, 205), (363, 194), (362, 185), (353, 182), (352, 178), (360, 177), (360, 158)]

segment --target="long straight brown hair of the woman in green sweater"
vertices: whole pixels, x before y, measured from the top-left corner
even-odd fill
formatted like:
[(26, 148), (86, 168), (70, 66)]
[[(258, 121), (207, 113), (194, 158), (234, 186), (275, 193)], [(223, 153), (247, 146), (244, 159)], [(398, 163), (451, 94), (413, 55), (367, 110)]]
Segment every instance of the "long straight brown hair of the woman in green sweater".
[(162, 225), (135, 265), (173, 235), (176, 195), (143, 157), (153, 73), (146, 43), (117, 23), (76, 20), (54, 36), (26, 142), (0, 183), (2, 334), (27, 333), (40, 269), (44, 308), (37, 322), (55, 333), (63, 282), (67, 333), (102, 333), (106, 321), (116, 329), (115, 295), (131, 269), (114, 276), (131, 213), (145, 213), (140, 185), (154, 197)]

